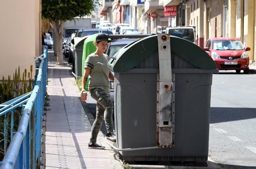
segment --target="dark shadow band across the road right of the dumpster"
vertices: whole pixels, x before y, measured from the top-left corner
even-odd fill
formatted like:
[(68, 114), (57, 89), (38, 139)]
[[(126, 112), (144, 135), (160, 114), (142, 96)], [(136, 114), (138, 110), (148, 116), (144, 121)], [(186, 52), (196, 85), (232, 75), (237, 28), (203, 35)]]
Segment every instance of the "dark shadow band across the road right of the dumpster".
[(256, 118), (256, 108), (211, 107), (210, 123)]

